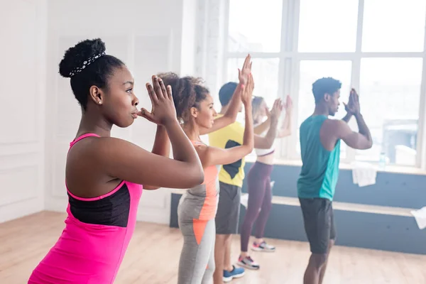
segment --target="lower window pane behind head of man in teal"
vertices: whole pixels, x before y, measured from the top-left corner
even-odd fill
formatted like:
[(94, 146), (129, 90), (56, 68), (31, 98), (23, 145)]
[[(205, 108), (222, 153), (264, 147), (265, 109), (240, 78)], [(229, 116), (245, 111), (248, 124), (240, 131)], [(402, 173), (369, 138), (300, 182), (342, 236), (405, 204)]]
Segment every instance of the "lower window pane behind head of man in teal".
[[(347, 102), (351, 89), (351, 61), (342, 60), (302, 60), (300, 61), (300, 79), (299, 79), (299, 99), (297, 125), (300, 126), (315, 109), (314, 95), (312, 94), (312, 84), (322, 77), (334, 77), (342, 82), (340, 91), (339, 111), (334, 116), (336, 119), (342, 119), (346, 115), (342, 102)], [(298, 131), (297, 131), (298, 132)], [(297, 134), (298, 136), (298, 134)], [(300, 141), (297, 138), (297, 153), (300, 153)], [(341, 158), (346, 157), (346, 144), (341, 143)]]

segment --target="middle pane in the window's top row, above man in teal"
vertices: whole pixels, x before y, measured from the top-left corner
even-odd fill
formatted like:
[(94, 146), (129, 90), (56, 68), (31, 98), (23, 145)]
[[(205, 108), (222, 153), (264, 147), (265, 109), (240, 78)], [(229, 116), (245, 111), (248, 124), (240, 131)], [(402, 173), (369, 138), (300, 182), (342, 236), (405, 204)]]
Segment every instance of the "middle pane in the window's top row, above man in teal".
[(353, 52), (357, 22), (358, 0), (300, 0), (298, 50)]

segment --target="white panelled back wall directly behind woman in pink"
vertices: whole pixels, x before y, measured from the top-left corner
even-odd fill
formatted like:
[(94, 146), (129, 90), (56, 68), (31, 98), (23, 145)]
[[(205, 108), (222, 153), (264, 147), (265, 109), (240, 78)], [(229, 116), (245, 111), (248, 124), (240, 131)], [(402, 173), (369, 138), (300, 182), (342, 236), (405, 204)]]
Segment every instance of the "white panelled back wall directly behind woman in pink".
[[(141, 107), (151, 109), (144, 87), (151, 75), (181, 72), (185, 64), (181, 60), (184, 10), (182, 0), (48, 1), (45, 209), (62, 212), (66, 209), (65, 158), (80, 122), (80, 107), (69, 80), (58, 75), (58, 64), (65, 50), (79, 40), (102, 38), (107, 53), (124, 60), (132, 70)], [(185, 57), (191, 60), (189, 53)], [(128, 129), (113, 129), (114, 136), (146, 149), (153, 145), (154, 132), (155, 126), (143, 119)], [(170, 192), (165, 189), (143, 192), (138, 219), (168, 224)]]

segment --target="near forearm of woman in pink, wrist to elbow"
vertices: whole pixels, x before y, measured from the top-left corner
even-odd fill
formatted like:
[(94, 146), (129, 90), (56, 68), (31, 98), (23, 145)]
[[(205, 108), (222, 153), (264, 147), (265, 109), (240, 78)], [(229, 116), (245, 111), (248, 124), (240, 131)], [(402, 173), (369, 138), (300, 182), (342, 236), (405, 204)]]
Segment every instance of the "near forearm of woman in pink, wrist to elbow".
[(173, 158), (185, 163), (199, 163), (197, 152), (178, 121), (172, 121), (165, 126), (173, 148)]

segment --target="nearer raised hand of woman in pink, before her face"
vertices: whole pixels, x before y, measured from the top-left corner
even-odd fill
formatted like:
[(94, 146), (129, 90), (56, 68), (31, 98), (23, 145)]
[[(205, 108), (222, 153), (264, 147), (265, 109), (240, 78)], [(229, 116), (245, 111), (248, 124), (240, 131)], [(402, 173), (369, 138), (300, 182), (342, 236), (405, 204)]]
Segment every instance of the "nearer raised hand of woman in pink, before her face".
[(173, 103), (172, 88), (164, 86), (163, 80), (153, 75), (153, 84), (146, 83), (146, 89), (151, 99), (151, 112), (142, 108), (138, 111), (138, 116), (142, 116), (154, 124), (165, 126), (166, 124), (176, 121), (176, 109)]

